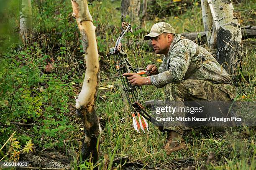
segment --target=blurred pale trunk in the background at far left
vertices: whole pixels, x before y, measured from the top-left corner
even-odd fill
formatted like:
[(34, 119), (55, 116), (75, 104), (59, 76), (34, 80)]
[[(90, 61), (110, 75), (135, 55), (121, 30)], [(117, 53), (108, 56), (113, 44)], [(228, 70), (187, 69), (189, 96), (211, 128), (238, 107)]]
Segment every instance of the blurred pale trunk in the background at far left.
[(21, 0), (20, 10), (20, 37), (25, 42), (32, 31), (32, 10), (30, 0)]

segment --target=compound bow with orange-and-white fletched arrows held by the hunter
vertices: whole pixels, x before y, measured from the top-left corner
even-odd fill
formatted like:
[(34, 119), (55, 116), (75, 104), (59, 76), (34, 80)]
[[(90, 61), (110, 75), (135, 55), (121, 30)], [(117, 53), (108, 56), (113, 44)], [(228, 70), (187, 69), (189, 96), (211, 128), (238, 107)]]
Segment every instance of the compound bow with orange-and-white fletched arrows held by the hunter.
[[(139, 95), (138, 91), (141, 91), (142, 94), (142, 87), (141, 86), (134, 86), (131, 85), (129, 80), (126, 76), (123, 76), (123, 73), (126, 72), (135, 72), (138, 74), (143, 74), (145, 71), (142, 71), (141, 68), (133, 68), (128, 62), (127, 54), (123, 50), (123, 45), (121, 43), (121, 40), (123, 39), (123, 36), (125, 33), (131, 32), (133, 33), (133, 30), (131, 28), (131, 24), (128, 24), (126, 22), (122, 23), (123, 31), (120, 33), (118, 40), (115, 43), (115, 47), (110, 48), (110, 55), (114, 55), (116, 58), (116, 70), (120, 74), (121, 82), (123, 85), (123, 91), (125, 92), (126, 99), (128, 101), (129, 109), (131, 111), (131, 115), (133, 117), (133, 128), (139, 133), (139, 130), (143, 130), (145, 133), (145, 130), (148, 130), (148, 123), (146, 120), (152, 122), (156, 126), (161, 126), (161, 124), (156, 121), (151, 115), (149, 115), (144, 107), (139, 102)], [(138, 45), (138, 43), (137, 43)], [(135, 54), (135, 52), (134, 52)], [(135, 56), (136, 57), (136, 56)], [(142, 119), (141, 116), (142, 115)], [(136, 116), (138, 117), (139, 121), (137, 121)]]

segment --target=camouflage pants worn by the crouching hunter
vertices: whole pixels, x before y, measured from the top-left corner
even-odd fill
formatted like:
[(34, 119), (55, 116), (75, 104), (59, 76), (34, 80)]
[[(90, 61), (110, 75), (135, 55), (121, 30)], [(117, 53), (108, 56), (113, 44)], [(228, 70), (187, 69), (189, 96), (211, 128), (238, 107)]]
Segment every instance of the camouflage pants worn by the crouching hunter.
[[(212, 84), (204, 80), (188, 79), (169, 83), (165, 86), (165, 100), (176, 102), (174, 105), (179, 107), (184, 107), (184, 101), (231, 101), (234, 94), (233, 85)], [(183, 112), (175, 114), (185, 117)], [(170, 116), (170, 114), (165, 116)], [(174, 130), (180, 134), (183, 134), (185, 130), (191, 130), (191, 127), (185, 125), (170, 125), (168, 122), (164, 122), (163, 125), (164, 130)]]

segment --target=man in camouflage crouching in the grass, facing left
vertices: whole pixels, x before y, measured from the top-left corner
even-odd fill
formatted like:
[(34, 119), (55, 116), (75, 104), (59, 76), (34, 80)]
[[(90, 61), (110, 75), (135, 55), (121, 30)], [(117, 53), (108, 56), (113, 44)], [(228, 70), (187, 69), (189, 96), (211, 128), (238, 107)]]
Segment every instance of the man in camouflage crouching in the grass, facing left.
[[(159, 69), (156, 65), (148, 65), (148, 77), (136, 73), (125, 73), (132, 85), (154, 85), (165, 88), (165, 100), (184, 101), (232, 101), (234, 88), (228, 73), (217, 60), (195, 42), (175, 34), (168, 23), (156, 23), (144, 40), (152, 40), (156, 54), (164, 54)], [(184, 112), (176, 115), (185, 117)], [(190, 128), (186, 125), (169, 125), (164, 123), (167, 141), (164, 150), (167, 155), (185, 148), (182, 135)]]

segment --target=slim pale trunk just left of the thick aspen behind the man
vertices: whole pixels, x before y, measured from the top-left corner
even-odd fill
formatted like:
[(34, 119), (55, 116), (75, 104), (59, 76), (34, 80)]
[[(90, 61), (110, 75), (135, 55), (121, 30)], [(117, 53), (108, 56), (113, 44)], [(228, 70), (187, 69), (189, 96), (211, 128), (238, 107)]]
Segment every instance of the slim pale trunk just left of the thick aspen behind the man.
[(202, 19), (207, 36), (207, 45), (210, 51), (216, 49), (217, 35), (214, 22), (212, 22), (212, 14), (207, 0), (201, 0)]

